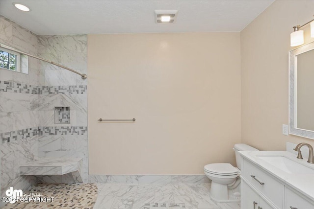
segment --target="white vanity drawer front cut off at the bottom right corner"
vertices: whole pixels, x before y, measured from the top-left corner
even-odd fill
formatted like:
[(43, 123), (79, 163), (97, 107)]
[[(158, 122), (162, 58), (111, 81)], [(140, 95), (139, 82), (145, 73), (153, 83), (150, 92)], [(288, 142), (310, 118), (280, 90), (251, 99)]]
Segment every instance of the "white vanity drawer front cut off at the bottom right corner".
[(285, 209), (313, 209), (314, 204), (308, 202), (300, 195), (286, 187)]

